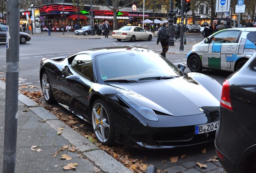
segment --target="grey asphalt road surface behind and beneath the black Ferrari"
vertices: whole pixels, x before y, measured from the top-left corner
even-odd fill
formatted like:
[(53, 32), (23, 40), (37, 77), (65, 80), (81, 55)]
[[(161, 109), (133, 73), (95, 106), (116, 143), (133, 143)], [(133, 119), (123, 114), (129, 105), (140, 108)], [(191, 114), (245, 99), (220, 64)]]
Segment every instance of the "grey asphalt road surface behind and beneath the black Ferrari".
[[(105, 47), (105, 46), (142, 46), (151, 47), (156, 46), (156, 37), (153, 41), (122, 41), (118, 42), (115, 39), (78, 39), (72, 37), (57, 37), (57, 36), (32, 36), (30, 42), (27, 44), (20, 45), (20, 71), (19, 71), (19, 84), (20, 85), (33, 85), (35, 87), (31, 90), (40, 90), (39, 83), (39, 64), (41, 58), (53, 58), (56, 56), (68, 56), (75, 52), (85, 50), (94, 47)], [(202, 37), (200, 35), (191, 35), (187, 37), (189, 40), (198, 41)], [(0, 44), (0, 78), (5, 78), (6, 70), (6, 46)], [(178, 65), (180, 62), (186, 63), (186, 55), (184, 54), (168, 54), (167, 59)], [(187, 72), (189, 69), (186, 68)], [(229, 76), (230, 72), (216, 71), (216, 70), (203, 70), (203, 74), (207, 74), (215, 78), (219, 83), (222, 84), (223, 80)], [(29, 89), (24, 89), (29, 90)], [(54, 105), (61, 108), (59, 105)], [(64, 111), (66, 115), (70, 113)], [(81, 120), (81, 123), (85, 124)], [(90, 131), (91, 129), (88, 128)], [(225, 171), (221, 167), (219, 162), (207, 163), (207, 168), (199, 168), (196, 162), (206, 164), (206, 160), (215, 156), (214, 143), (208, 143), (205, 145), (198, 145), (196, 147), (182, 148), (182, 149), (168, 149), (162, 151), (150, 151), (141, 150), (134, 148), (122, 147), (120, 145), (114, 146), (114, 150), (122, 153), (122, 155), (129, 155), (132, 159), (138, 159), (145, 164), (152, 164), (157, 167), (160, 172), (167, 171), (168, 173), (202, 173), (202, 172), (219, 172), (224, 173)], [(202, 153), (202, 150), (206, 149), (206, 153)], [(182, 155), (186, 157), (181, 158)], [(177, 163), (171, 163), (170, 158), (178, 156)]]

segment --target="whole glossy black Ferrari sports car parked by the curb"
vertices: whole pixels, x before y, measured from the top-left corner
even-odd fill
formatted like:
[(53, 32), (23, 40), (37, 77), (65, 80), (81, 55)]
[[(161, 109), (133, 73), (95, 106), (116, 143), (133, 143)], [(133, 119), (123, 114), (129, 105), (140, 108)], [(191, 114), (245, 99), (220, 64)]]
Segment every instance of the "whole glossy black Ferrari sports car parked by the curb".
[(185, 147), (215, 139), (222, 90), (185, 68), (145, 48), (95, 48), (43, 58), (40, 82), (45, 101), (91, 123), (103, 145)]

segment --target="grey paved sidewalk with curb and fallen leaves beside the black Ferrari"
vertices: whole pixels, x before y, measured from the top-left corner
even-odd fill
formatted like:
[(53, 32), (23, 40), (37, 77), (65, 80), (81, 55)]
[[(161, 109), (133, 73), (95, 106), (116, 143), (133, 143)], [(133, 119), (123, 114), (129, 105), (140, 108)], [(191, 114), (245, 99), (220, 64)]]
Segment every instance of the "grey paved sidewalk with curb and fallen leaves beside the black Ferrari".
[[(5, 83), (0, 81), (0, 162), (4, 158)], [(62, 129), (60, 129), (62, 128)], [(19, 93), (16, 173), (132, 173), (113, 157)], [(57, 135), (62, 131), (61, 135)], [(68, 148), (61, 150), (63, 146)], [(37, 146), (31, 148), (32, 146)], [(75, 149), (76, 151), (68, 151)], [(55, 155), (54, 155), (55, 154)], [(72, 159), (61, 159), (62, 155)], [(64, 170), (77, 163), (76, 170)], [(0, 164), (2, 172), (3, 165)]]

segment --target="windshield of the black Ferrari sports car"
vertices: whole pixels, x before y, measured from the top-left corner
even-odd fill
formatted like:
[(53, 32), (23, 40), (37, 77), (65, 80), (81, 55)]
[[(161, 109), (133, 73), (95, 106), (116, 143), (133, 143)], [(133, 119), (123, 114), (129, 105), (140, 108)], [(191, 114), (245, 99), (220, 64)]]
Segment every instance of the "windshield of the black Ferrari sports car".
[(130, 50), (96, 56), (99, 83), (145, 82), (183, 76), (176, 66), (151, 50)]

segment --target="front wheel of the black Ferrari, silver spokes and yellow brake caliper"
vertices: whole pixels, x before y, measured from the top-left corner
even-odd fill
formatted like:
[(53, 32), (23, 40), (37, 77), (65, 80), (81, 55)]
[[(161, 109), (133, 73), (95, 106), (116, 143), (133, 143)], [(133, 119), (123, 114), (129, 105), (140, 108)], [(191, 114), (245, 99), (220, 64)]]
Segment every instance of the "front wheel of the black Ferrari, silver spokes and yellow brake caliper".
[(115, 143), (113, 121), (109, 108), (103, 100), (97, 99), (93, 103), (91, 121), (94, 133), (99, 142), (103, 145), (113, 145)]

